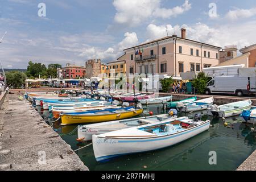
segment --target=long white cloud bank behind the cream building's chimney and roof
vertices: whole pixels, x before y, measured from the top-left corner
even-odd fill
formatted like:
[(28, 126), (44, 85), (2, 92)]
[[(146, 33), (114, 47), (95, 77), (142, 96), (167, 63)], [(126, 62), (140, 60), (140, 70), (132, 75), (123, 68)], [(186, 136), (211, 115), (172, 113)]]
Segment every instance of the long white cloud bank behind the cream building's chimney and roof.
[[(210, 27), (204, 23), (196, 23), (191, 26), (186, 24), (172, 26), (168, 24), (167, 27), (169, 32), (171, 32), (169, 35), (172, 35), (175, 29), (177, 36), (180, 36), (180, 29), (182, 27), (187, 29), (187, 39), (219, 47), (234, 44), (238, 48), (242, 48), (255, 44), (256, 40), (256, 35), (251, 31), (256, 30), (256, 21), (240, 24), (223, 24), (220, 27)], [(146, 35), (147, 42), (153, 39), (163, 38), (166, 36), (166, 26), (150, 24), (147, 26)]]

